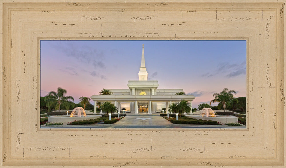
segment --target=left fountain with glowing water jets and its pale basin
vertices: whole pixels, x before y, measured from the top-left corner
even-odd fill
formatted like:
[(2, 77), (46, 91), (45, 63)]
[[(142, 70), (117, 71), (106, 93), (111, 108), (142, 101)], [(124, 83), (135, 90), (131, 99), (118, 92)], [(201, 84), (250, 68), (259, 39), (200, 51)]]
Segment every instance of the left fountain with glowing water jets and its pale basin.
[(86, 115), (86, 113), (92, 114), (93, 112), (86, 111), (82, 107), (76, 107), (72, 110), (71, 115), (63, 115), (63, 116), (49, 116), (48, 122), (63, 122), (64, 124), (72, 121), (79, 120), (90, 120), (95, 118), (100, 118), (102, 115)]

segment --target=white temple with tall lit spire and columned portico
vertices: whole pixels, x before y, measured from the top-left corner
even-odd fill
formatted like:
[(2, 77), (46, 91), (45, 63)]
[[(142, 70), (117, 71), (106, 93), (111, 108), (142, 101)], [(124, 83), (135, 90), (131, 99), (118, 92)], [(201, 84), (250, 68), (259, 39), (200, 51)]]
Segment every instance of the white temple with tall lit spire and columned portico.
[[(91, 99), (94, 100), (94, 113), (96, 114), (96, 102), (113, 102), (117, 106), (118, 110), (121, 107), (128, 106), (127, 111), (135, 114), (147, 113), (152, 114), (160, 112), (160, 108), (157, 108), (157, 103), (161, 108), (168, 106), (172, 102), (178, 102), (183, 99), (190, 101), (194, 100), (193, 95), (175, 95), (178, 92), (183, 92), (183, 89), (157, 89), (159, 84), (157, 80), (147, 80), (148, 73), (145, 67), (144, 57), (144, 44), (142, 47), (141, 66), (138, 73), (138, 80), (129, 80), (129, 89), (108, 89), (113, 92), (113, 95), (93, 95)], [(102, 111), (100, 112), (102, 113)], [(192, 111), (190, 111), (192, 114)]]

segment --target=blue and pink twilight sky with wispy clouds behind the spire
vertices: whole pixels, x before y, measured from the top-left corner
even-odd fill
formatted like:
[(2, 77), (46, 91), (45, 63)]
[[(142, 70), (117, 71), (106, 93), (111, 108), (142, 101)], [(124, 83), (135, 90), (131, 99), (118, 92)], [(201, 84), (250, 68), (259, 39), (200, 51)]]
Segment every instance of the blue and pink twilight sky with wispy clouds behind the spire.
[(41, 40), (41, 96), (61, 87), (78, 103), (103, 88), (128, 89), (138, 80), (142, 44), (148, 80), (196, 96), (192, 108), (224, 88), (246, 96), (245, 40)]

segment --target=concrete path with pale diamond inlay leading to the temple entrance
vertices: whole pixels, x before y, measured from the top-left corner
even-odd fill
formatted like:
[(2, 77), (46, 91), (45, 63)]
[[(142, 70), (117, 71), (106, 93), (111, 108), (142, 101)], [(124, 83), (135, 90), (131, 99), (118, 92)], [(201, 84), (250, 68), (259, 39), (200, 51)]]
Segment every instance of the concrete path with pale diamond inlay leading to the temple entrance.
[(127, 114), (113, 125), (173, 125), (172, 122), (161, 117), (160, 114)]

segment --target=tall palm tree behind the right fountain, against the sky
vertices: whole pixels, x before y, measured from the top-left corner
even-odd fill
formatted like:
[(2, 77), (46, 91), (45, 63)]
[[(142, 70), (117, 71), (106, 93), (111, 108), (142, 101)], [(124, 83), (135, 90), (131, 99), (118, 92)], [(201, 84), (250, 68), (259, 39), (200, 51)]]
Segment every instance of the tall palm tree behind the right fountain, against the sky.
[(238, 102), (238, 100), (233, 97), (233, 93), (236, 94), (234, 90), (228, 90), (228, 88), (225, 88), (221, 93), (214, 93), (213, 96), (215, 99), (210, 101), (210, 105), (212, 102), (221, 102), (223, 111), (225, 112), (227, 104), (231, 104), (233, 101)]

